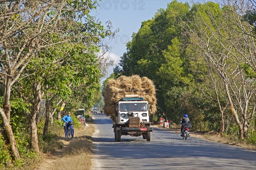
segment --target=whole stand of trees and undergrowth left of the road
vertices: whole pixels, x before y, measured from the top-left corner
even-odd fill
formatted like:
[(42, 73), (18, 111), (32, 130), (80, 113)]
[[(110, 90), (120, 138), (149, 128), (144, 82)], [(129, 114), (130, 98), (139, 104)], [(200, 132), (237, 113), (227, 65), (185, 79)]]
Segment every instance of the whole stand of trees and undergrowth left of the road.
[(0, 1), (0, 168), (22, 169), (63, 147), (55, 133), (61, 118), (101, 99), (99, 81), (112, 64), (100, 53), (108, 50), (102, 39), (116, 31), (90, 15), (96, 6)]

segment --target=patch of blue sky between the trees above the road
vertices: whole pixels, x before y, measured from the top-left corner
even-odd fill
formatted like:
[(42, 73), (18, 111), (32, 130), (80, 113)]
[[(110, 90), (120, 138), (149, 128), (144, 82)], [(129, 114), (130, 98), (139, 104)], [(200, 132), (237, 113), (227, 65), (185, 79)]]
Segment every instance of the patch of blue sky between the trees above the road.
[[(125, 44), (131, 41), (133, 32), (138, 32), (141, 22), (151, 19), (157, 9), (166, 9), (167, 3), (171, 0), (102, 0), (98, 1), (99, 7), (91, 13), (102, 23), (112, 22), (113, 30), (119, 28), (115, 39), (105, 40), (111, 51), (108, 55), (119, 63), (120, 56), (126, 52)], [(185, 0), (184, 0), (185, 2)], [(110, 68), (111, 72), (113, 68)]]

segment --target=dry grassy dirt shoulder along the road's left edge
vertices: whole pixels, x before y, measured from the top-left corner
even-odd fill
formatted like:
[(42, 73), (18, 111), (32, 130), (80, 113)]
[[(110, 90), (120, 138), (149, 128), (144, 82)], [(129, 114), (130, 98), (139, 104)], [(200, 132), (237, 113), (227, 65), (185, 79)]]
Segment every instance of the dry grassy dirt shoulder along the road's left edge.
[(75, 129), (74, 138), (64, 138), (63, 134), (60, 141), (64, 147), (54, 153), (43, 154), (42, 161), (35, 170), (90, 170), (93, 147), (90, 138), (94, 130), (94, 125), (88, 124), (88, 127)]

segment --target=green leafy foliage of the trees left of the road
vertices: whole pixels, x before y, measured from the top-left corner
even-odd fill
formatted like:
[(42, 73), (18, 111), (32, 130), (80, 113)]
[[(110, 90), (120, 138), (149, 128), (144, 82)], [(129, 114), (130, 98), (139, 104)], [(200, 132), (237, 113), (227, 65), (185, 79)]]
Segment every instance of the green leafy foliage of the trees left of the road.
[[(90, 12), (96, 9), (96, 1), (67, 0), (52, 4), (48, 1), (33, 4), (20, 1), (16, 7), (13, 6), (15, 3), (7, 1), (1, 4), (6, 7), (6, 10), (0, 9), (1, 16), (14, 9), (13, 13), (3, 21), (4, 26), (0, 29), (4, 35), (12, 35), (9, 37), (10, 41), (6, 38), (0, 39), (0, 43), (4, 44), (0, 48), (0, 73), (1, 75), (11, 73), (12, 83), (7, 84), (6, 77), (1, 77), (0, 83), (3, 87), (6, 85), (6, 89), (12, 89), (10, 122), (21, 156), (21, 159), (15, 161), (16, 166), (23, 164), (25, 157), (30, 158), (35, 155), (28, 148), (30, 127), (26, 118), (37, 119), (38, 115), (31, 115), (32, 109), (38, 105), (36, 92), (41, 93), (47, 104), (50, 104), (50, 112), (59, 108), (58, 102), (61, 100), (65, 103), (70, 102), (71, 111), (75, 108), (90, 108), (101, 97), (99, 84), (102, 76), (101, 63), (105, 65), (96, 53), (105, 48), (105, 45), (100, 43), (101, 39), (114, 35), (111, 24), (105, 29), (101, 22), (90, 15)], [(56, 9), (56, 6), (64, 6), (64, 8)], [(48, 19), (44, 20), (43, 16)], [(33, 22), (35, 20), (39, 22), (41, 28), (39, 34), (38, 26)], [(6, 51), (9, 52), (8, 58), (5, 55)], [(38, 85), (41, 91), (35, 89), (35, 85)], [(3, 105), (2, 90), (0, 107)], [(8, 96), (4, 100), (8, 103)], [(81, 124), (76, 118), (73, 120), (74, 126), (79, 128)], [(61, 127), (61, 122), (54, 122), (56, 127)], [(38, 135), (42, 148), (44, 143), (50, 145), (49, 142), (54, 143), (55, 139), (52, 133), (43, 138), (41, 136), (43, 129), (44, 122), (40, 121)]]

